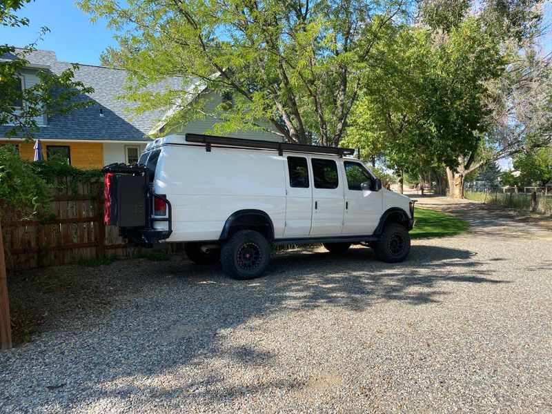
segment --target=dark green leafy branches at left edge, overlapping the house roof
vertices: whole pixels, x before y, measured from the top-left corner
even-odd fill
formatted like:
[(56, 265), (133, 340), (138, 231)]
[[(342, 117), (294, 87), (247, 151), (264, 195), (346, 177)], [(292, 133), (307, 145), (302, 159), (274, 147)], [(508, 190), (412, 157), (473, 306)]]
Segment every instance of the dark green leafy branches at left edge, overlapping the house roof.
[[(28, 26), (28, 19), (18, 17), (19, 11), (30, 0), (0, 1), (0, 25), (8, 27)], [(39, 39), (48, 32), (42, 28)], [(73, 81), (77, 65), (72, 65), (60, 75), (39, 70), (39, 82), (27, 88), (21, 88), (19, 74), (28, 64), (26, 57), (35, 50), (36, 42), (22, 49), (10, 45), (0, 45), (0, 57), (7, 57), (0, 63), (0, 125), (13, 125), (8, 137), (22, 136), (32, 138), (33, 132), (39, 130), (37, 117), (46, 115), (63, 115), (71, 110), (84, 108), (88, 101), (74, 101), (75, 97), (94, 90)]]

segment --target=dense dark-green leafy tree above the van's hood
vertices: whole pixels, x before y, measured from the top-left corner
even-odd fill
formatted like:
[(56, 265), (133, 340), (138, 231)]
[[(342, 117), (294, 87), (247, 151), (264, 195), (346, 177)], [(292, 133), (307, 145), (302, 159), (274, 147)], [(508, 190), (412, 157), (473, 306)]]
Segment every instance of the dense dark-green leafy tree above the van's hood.
[[(484, 132), (484, 81), (502, 67), (498, 43), (469, 18), (443, 39), (428, 28), (389, 36), (380, 70), (365, 77), (346, 143), (377, 148), (401, 177), (455, 168)], [(401, 188), (401, 186), (399, 187)]]

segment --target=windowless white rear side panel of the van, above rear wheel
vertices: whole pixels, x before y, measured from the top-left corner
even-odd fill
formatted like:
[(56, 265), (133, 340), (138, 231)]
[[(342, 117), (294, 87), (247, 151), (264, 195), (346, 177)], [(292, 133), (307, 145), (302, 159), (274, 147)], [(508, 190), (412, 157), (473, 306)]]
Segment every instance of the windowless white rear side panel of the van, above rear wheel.
[[(165, 144), (157, 161), (154, 188), (172, 209), (167, 242), (217, 240), (226, 219), (238, 210), (262, 210), (284, 235), (284, 159), (275, 152)], [(164, 223), (156, 224), (163, 228)]]

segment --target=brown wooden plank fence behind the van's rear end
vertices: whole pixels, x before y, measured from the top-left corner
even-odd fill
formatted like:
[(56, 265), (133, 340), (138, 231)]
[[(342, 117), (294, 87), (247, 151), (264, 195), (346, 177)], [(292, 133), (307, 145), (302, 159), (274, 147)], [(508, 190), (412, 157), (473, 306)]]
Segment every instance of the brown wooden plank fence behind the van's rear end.
[(115, 254), (130, 256), (135, 248), (119, 231), (103, 224), (103, 180), (54, 183), (52, 218), (17, 221), (4, 229), (6, 265), (10, 270), (77, 263)]

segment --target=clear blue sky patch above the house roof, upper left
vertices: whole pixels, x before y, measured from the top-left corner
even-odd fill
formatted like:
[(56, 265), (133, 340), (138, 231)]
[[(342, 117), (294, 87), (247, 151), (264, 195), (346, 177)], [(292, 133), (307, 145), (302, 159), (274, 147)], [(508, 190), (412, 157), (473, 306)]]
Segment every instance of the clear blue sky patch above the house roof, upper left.
[(38, 0), (23, 6), (17, 13), (30, 24), (21, 28), (0, 26), (0, 44), (26, 46), (39, 36), (40, 28), (50, 29), (38, 49), (54, 50), (59, 61), (99, 65), (99, 55), (108, 46), (116, 46), (114, 32), (106, 21), (90, 23), (90, 16), (75, 6), (75, 0)]

